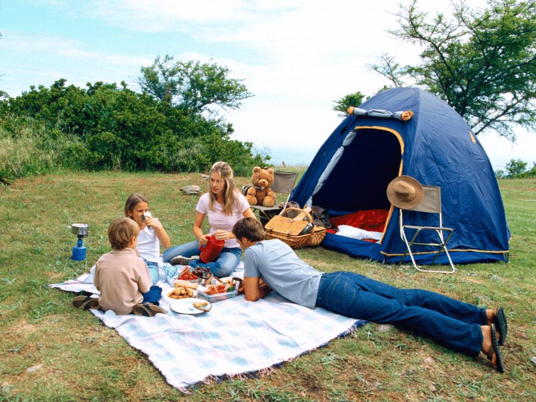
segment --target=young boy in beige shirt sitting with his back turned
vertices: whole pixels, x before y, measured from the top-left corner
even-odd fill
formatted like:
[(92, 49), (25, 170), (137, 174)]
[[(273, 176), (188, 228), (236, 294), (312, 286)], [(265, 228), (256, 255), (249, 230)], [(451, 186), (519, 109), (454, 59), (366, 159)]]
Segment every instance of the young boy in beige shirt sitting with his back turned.
[(139, 227), (130, 218), (118, 218), (108, 227), (108, 240), (112, 250), (96, 263), (95, 287), (99, 299), (77, 296), (72, 301), (76, 308), (114, 310), (115, 314), (154, 316), (166, 314), (158, 307), (162, 288), (151, 286), (151, 276), (144, 260), (138, 257)]

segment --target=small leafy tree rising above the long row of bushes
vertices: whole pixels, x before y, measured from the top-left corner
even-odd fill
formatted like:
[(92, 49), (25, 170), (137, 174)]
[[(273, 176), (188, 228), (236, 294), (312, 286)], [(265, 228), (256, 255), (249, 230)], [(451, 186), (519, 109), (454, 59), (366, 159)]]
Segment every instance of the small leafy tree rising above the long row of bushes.
[(216, 63), (173, 62), (172, 56), (158, 56), (140, 69), (137, 83), (147, 94), (187, 114), (209, 111), (210, 106), (239, 109), (241, 101), (253, 96), (241, 79), (228, 78), (230, 70)]

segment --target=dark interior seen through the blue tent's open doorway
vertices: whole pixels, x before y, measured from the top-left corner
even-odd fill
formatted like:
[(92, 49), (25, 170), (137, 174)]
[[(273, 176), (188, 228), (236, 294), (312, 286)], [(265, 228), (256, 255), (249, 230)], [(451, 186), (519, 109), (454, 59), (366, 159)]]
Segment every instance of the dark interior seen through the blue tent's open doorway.
[(387, 185), (399, 175), (402, 161), (399, 138), (391, 129), (356, 130), (312, 204), (341, 212), (389, 210)]

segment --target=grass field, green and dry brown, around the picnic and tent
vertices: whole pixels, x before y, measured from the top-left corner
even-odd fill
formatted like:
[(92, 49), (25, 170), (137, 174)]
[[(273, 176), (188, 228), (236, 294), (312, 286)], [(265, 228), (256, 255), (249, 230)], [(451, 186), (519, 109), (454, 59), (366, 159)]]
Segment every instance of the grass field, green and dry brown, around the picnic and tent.
[[(242, 185), (248, 178), (237, 178)], [(349, 270), (399, 287), (419, 287), (478, 304), (503, 306), (507, 371), (410, 332), (368, 324), (351, 336), (282, 364), (272, 374), (203, 385), (184, 395), (145, 355), (73, 294), (47, 284), (87, 272), (109, 251), (106, 229), (131, 192), (144, 193), (172, 244), (191, 240), (197, 197), (183, 185), (197, 174), (57, 174), (0, 187), (0, 401), (530, 401), (536, 400), (536, 180), (500, 182), (512, 230), (510, 264), (458, 266), (450, 276), (423, 274), (322, 248), (298, 250), (323, 271)], [(76, 236), (65, 225), (91, 225), (87, 259), (70, 259)], [(40, 366), (28, 372), (33, 366)]]

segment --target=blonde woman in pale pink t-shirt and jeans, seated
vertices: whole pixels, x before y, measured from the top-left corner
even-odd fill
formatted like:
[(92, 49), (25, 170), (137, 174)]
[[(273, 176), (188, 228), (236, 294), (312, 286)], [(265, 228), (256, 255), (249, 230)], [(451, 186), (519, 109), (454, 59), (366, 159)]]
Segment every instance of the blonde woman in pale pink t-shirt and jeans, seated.
[[(201, 228), (205, 217), (209, 218), (210, 224), (210, 232), (206, 234)], [(197, 240), (166, 250), (162, 256), (164, 262), (209, 267), (216, 277), (228, 276), (242, 257), (242, 250), (232, 230), (234, 224), (244, 217), (255, 218), (255, 215), (234, 184), (233, 169), (226, 162), (214, 163), (210, 169), (209, 192), (199, 198), (196, 206), (193, 234)], [(199, 254), (199, 246), (205, 245), (207, 236), (210, 235), (214, 235), (218, 240), (225, 240), (218, 259), (212, 263), (203, 263), (200, 259), (192, 258)]]

